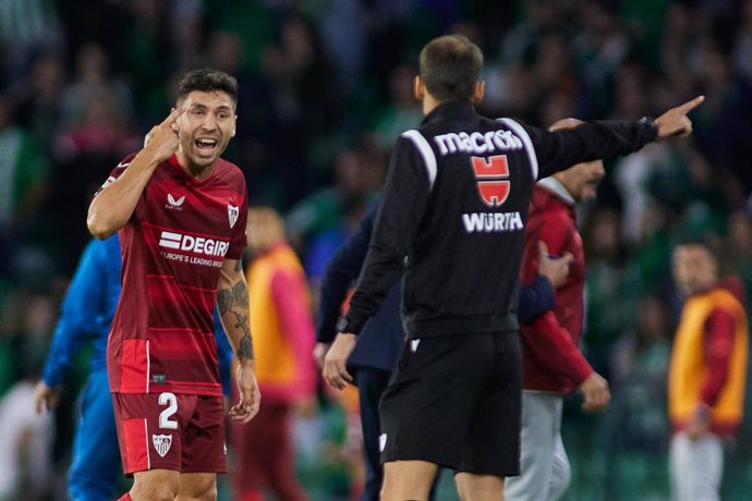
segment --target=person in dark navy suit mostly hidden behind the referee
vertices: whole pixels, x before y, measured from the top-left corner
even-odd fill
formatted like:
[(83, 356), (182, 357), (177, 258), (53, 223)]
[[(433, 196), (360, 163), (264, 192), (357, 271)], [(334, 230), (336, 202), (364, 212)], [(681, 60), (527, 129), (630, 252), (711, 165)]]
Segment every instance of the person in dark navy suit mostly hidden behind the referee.
[[(368, 252), (371, 233), (376, 221), (378, 204), (372, 204), (361, 224), (348, 242), (337, 252), (327, 266), (322, 281), (318, 317), (316, 319), (316, 345), (314, 356), (322, 366), (324, 357), (337, 334), (337, 320), (342, 313), (342, 302), (352, 282), (357, 279)], [(518, 319), (526, 323), (554, 307), (554, 288), (563, 283), (572, 256), (553, 257), (545, 245), (539, 245), (541, 267), (538, 277), (520, 288)], [(348, 371), (355, 378), (361, 403), (361, 426), (366, 466), (365, 488), (361, 501), (377, 501), (383, 471), (379, 464), (378, 401), (389, 382), (399, 351), (404, 342), (400, 318), (401, 285), (391, 288), (381, 308), (365, 325), (350, 358)]]

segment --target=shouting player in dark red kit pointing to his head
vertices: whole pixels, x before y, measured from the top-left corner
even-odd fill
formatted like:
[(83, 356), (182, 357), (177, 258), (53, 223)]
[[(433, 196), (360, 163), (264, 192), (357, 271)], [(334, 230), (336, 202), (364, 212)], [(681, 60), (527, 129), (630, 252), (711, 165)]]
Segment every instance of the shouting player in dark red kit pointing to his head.
[(187, 73), (170, 115), (89, 206), (92, 234), (120, 231), (122, 245), (107, 366), (123, 471), (135, 479), (123, 500), (216, 499), (226, 448), (215, 304), (239, 358), (230, 416), (258, 412), (241, 264), (245, 180), (219, 157), (235, 134), (236, 99), (230, 75)]

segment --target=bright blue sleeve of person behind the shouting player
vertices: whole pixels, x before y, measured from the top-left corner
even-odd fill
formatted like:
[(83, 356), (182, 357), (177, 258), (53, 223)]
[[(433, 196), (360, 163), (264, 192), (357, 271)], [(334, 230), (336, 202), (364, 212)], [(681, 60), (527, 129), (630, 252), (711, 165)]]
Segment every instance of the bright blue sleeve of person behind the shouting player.
[[(60, 318), (54, 328), (52, 346), (45, 362), (43, 381), (49, 387), (61, 384), (71, 359), (92, 332), (100, 326), (106, 278), (102, 270), (107, 259), (104, 241), (93, 240), (84, 249), (73, 280), (65, 292)], [(106, 315), (105, 315), (106, 316)]]

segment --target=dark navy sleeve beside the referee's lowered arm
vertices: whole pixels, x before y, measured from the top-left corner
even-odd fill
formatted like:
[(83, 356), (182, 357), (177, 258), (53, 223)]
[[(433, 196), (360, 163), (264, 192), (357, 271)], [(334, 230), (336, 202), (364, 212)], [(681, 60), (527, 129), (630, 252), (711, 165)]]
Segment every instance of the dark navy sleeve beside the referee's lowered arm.
[(327, 266), (316, 319), (316, 341), (330, 343), (337, 334), (337, 319), (341, 314), (350, 284), (357, 279), (368, 252), (378, 204), (372, 204), (350, 240), (337, 252)]

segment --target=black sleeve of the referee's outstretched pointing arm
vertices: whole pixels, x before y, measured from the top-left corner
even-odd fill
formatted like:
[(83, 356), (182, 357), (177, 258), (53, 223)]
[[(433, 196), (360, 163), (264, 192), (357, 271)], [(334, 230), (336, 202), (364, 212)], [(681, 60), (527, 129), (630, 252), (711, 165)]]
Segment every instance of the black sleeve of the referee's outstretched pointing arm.
[(537, 157), (538, 179), (583, 161), (629, 155), (658, 135), (653, 120), (590, 122), (554, 132), (526, 125), (524, 129)]

